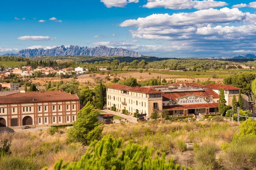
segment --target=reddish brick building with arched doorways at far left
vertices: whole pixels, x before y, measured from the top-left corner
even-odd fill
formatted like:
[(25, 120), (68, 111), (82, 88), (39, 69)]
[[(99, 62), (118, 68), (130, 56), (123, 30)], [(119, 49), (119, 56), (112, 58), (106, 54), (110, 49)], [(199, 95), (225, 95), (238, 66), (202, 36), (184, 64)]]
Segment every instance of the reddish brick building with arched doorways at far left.
[(61, 91), (0, 96), (0, 127), (72, 123), (78, 111), (78, 96)]

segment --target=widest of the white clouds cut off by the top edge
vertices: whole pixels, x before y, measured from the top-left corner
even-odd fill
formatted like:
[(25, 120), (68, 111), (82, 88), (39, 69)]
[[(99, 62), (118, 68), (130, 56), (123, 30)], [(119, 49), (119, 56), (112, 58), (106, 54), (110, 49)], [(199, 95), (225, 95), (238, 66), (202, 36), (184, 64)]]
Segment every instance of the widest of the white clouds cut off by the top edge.
[(208, 9), (227, 6), (228, 4), (215, 0), (148, 0), (144, 8), (169, 8), (169, 9)]

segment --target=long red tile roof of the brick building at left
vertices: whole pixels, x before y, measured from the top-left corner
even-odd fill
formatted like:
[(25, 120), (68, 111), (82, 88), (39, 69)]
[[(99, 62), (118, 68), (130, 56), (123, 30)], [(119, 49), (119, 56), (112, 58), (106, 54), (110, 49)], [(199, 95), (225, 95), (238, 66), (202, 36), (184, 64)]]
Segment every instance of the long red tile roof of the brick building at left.
[(79, 100), (76, 94), (61, 91), (35, 91), (0, 96), (0, 104), (32, 103), (32, 102), (61, 102)]

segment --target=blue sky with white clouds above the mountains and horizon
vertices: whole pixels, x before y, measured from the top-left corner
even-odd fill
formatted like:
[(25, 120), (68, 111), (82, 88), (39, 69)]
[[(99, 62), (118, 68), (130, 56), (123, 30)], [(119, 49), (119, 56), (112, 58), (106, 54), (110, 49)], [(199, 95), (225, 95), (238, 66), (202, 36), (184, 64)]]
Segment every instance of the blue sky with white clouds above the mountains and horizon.
[(0, 54), (99, 44), (156, 57), (256, 52), (252, 0), (2, 0), (0, 6)]

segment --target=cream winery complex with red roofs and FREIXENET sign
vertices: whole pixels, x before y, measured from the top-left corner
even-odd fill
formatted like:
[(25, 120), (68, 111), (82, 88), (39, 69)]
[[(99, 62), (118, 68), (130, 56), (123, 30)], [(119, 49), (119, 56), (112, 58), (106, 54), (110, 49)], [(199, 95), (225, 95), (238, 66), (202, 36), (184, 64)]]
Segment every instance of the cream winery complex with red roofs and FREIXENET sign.
[[(107, 108), (116, 107), (129, 113), (146, 113), (148, 118), (153, 110), (161, 113), (163, 109), (170, 115), (199, 113), (218, 113), (219, 93), (223, 88), (227, 105), (232, 105), (233, 95), (237, 97), (240, 88), (230, 85), (200, 85), (198, 83), (178, 82), (167, 86), (128, 87), (111, 85), (107, 88)], [(243, 95), (244, 109), (249, 109), (247, 96)]]

